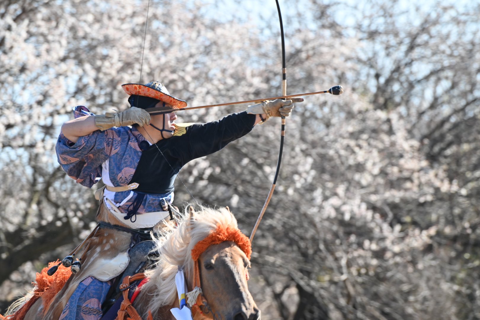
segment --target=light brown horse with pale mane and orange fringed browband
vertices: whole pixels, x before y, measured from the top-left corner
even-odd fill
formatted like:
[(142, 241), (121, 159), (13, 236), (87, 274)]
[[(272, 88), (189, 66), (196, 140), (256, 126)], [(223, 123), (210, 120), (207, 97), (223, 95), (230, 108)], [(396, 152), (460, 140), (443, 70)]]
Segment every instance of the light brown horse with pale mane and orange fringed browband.
[[(170, 309), (180, 306), (175, 276), (181, 268), (187, 296), (196, 291), (189, 298), (194, 320), (260, 320), (261, 312), (247, 285), (250, 240), (240, 232), (228, 207), (200, 207), (199, 211), (189, 207), (178, 227), (155, 241), (160, 254), (155, 267), (144, 273), (148, 281), (132, 303), (143, 319), (175, 320)], [(24, 319), (58, 319), (48, 313), (55, 308), (56, 299), (45, 310), (41, 300), (31, 306)], [(14, 314), (12, 319), (16, 319)]]

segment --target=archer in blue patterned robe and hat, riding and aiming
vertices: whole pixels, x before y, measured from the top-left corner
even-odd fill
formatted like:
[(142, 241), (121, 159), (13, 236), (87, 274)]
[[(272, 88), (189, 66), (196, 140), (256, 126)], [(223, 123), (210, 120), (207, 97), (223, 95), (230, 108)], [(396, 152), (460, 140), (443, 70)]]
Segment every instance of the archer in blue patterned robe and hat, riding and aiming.
[(76, 119), (61, 128), (56, 151), (62, 168), (88, 188), (102, 178), (105, 188), (96, 192), (99, 230), (85, 244), (82, 267), (45, 310), (49, 319), (100, 319), (114, 279), (128, 266), (127, 251), (154, 227), (171, 226), (166, 218), (181, 167), (215, 153), (269, 117), (288, 116), (293, 103), (303, 101), (264, 101), (217, 121), (176, 124), (176, 109), (187, 103), (163, 84), (122, 88), (129, 109), (94, 115), (78, 106)]

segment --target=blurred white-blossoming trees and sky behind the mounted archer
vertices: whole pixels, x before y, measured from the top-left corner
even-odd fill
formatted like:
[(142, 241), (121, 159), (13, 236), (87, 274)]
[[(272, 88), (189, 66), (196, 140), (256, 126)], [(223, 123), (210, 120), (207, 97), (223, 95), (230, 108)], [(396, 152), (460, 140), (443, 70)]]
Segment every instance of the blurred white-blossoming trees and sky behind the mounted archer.
[[(345, 92), (307, 96), (287, 119), (253, 241), (262, 319), (480, 319), (480, 5), (280, 6), (288, 93)], [(93, 190), (54, 151), (72, 107), (122, 111), (120, 85), (150, 81), (189, 106), (281, 95), (279, 33), (274, 1), (0, 2), (0, 313), (95, 226)], [(250, 235), (279, 140), (270, 119), (180, 178)], [(177, 179), (175, 204), (189, 202)]]

